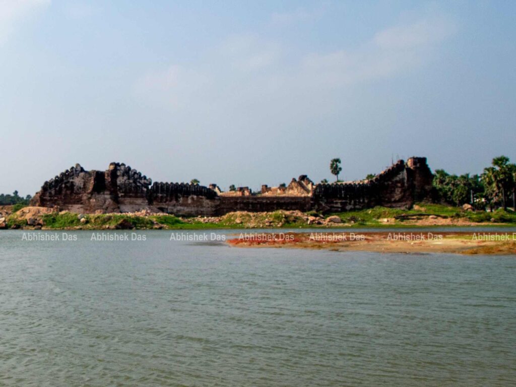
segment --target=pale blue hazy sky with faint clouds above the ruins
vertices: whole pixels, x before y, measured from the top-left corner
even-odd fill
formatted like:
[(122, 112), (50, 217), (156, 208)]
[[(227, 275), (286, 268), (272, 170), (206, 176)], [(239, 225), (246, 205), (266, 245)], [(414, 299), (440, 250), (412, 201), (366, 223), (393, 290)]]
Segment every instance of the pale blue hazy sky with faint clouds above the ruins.
[(513, 1), (0, 0), (0, 192), (80, 163), (257, 189), (516, 151)]

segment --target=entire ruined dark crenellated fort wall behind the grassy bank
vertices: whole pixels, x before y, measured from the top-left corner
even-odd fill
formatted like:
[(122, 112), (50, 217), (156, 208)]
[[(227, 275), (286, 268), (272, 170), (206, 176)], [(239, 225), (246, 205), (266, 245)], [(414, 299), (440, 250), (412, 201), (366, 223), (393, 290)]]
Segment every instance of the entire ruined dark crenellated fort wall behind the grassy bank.
[[(232, 211), (278, 209), (342, 212), (384, 205), (410, 207), (429, 197), (432, 173), (425, 157), (399, 160), (373, 179), (314, 185), (307, 176), (293, 179), (286, 195), (218, 195), (208, 187), (184, 183), (154, 183), (125, 164), (111, 163), (106, 171), (86, 171), (75, 165), (47, 181), (32, 205), (59, 207), (76, 213), (136, 212), (148, 209), (175, 215), (222, 215)], [(152, 184), (152, 185), (151, 185)], [(216, 186), (216, 185), (212, 185)]]

